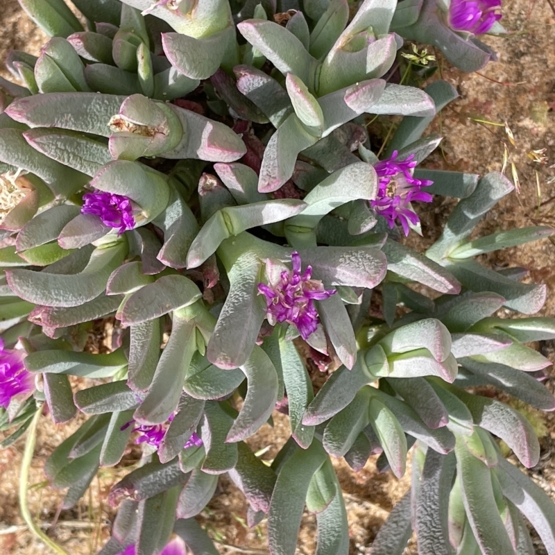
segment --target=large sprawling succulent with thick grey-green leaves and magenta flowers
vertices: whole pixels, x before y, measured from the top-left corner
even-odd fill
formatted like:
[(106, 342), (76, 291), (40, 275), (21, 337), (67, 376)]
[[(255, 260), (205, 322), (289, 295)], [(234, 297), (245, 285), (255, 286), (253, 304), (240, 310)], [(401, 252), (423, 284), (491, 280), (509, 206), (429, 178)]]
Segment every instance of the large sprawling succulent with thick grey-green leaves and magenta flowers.
[[(63, 509), (138, 434), (101, 554), (165, 554), (172, 531), (216, 553), (194, 517), (228, 473), (273, 554), (294, 553), (306, 505), (318, 555), (346, 555), (330, 456), (357, 471), (381, 452), (399, 477), (409, 450), (412, 488), (373, 554), (402, 553), (412, 529), (420, 553), (531, 554), (522, 514), (555, 554), (555, 506), (496, 443), (531, 467), (533, 429), (467, 391), (555, 409), (549, 362), (524, 345), (555, 321), (495, 316), (535, 314), (545, 287), (474, 259), (552, 229), (472, 239), (511, 182), (418, 167), (456, 92), (395, 83), (401, 4), (366, 0), (349, 22), (336, 0), (75, 1), (85, 30), (62, 0), (20, 3), (53, 38), (10, 54), (24, 86), (0, 82), (0, 425), (6, 445), (44, 402), (55, 422), (89, 416), (44, 468)], [(367, 114), (405, 116), (382, 160)], [(417, 253), (396, 224), (418, 232), (411, 203), (434, 194), (461, 200)], [(113, 316), (112, 349), (89, 352), (90, 323)], [(336, 362), (316, 395), (296, 339)], [(69, 376), (96, 381), (74, 392)], [(245, 440), (277, 402), (291, 438), (266, 466)]]

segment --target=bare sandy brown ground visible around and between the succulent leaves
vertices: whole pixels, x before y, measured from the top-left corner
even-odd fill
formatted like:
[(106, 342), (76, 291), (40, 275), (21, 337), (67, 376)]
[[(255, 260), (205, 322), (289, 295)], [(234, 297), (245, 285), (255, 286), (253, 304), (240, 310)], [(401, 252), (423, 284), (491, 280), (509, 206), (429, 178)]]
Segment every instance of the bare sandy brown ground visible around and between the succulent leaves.
[[(37, 53), (44, 43), (44, 35), (24, 15), (13, 0), (0, 0), (0, 59), (10, 48)], [(509, 147), (507, 175), (511, 177), (511, 162), (520, 180), (520, 195), (511, 194), (490, 211), (479, 233), (488, 234), (499, 229), (524, 225), (553, 225), (555, 223), (555, 14), (546, 0), (505, 0), (503, 23), (509, 30), (504, 38), (486, 37), (486, 42), (499, 53), (499, 62), (491, 63), (479, 74), (461, 74), (442, 62), (443, 78), (455, 85), (461, 99), (443, 112), (441, 122), (436, 119), (436, 131), (445, 137), (443, 156), (434, 153), (429, 166), (486, 173), (501, 169), (504, 143)], [(8, 77), (6, 72), (1, 73)], [(504, 123), (515, 136), (515, 146), (503, 127), (476, 120)], [(532, 150), (546, 148), (547, 164), (532, 162), (527, 156)], [(536, 184), (536, 171), (539, 187)], [(421, 207), (425, 248), (438, 236), (445, 221), (451, 200), (438, 198), (431, 205)], [(511, 248), (484, 257), (482, 262), (495, 267), (520, 265), (529, 268), (531, 279), (547, 284), (549, 293), (544, 316), (555, 315), (555, 246), (549, 241)], [(553, 345), (540, 345), (544, 354), (555, 361)], [(554, 391), (555, 373), (552, 370), (549, 387)], [(265, 426), (253, 438), (256, 448), (271, 445), (264, 455), (271, 459), (289, 436), (287, 418), (275, 414), (275, 428)], [(547, 434), (542, 443), (542, 459), (530, 474), (555, 499), (555, 415), (545, 418)], [(47, 418), (37, 438), (37, 448), (31, 469), (29, 503), (35, 520), (45, 527), (53, 521), (61, 495), (46, 486), (42, 464), (54, 447), (71, 434), (74, 425), (58, 426)], [(17, 506), (17, 481), (23, 441), (0, 452), (0, 552), (14, 555), (48, 553), (22, 524)], [(355, 474), (342, 461), (337, 461), (345, 492), (351, 532), (350, 554), (368, 554), (370, 544), (388, 511), (407, 487), (409, 479), (395, 480), (391, 475), (379, 475), (375, 460), (370, 459), (361, 472)], [(51, 531), (52, 537), (71, 555), (94, 554), (110, 534), (114, 513), (106, 504), (110, 484), (122, 470), (104, 469), (94, 479), (89, 492), (73, 511), (60, 515)], [(220, 495), (204, 511), (205, 525), (223, 554), (267, 554), (264, 547), (264, 523), (253, 531), (244, 524), (246, 506), (241, 495), (228, 479), (221, 479)], [(241, 546), (241, 547), (238, 547)], [(311, 554), (315, 547), (314, 518), (307, 515), (299, 542), (299, 554)], [(407, 554), (414, 554), (413, 548)], [(538, 554), (544, 553), (538, 548)]]

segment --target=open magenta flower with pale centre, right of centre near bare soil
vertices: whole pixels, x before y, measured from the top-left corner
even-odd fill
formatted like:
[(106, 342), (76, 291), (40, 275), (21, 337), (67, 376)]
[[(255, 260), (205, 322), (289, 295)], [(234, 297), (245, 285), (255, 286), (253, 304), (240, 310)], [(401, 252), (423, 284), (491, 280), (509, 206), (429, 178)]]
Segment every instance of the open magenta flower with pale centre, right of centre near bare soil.
[(395, 160), (398, 152), (393, 151), (388, 160), (380, 160), (374, 167), (379, 178), (377, 198), (370, 200), (370, 206), (384, 216), (390, 228), (398, 220), (405, 235), (409, 234), (409, 222), (416, 225), (420, 219), (411, 209), (410, 203), (420, 200), (422, 203), (432, 202), (432, 195), (420, 190), (420, 187), (432, 185), (427, 179), (415, 179), (412, 169), (418, 164), (411, 154), (405, 160)]

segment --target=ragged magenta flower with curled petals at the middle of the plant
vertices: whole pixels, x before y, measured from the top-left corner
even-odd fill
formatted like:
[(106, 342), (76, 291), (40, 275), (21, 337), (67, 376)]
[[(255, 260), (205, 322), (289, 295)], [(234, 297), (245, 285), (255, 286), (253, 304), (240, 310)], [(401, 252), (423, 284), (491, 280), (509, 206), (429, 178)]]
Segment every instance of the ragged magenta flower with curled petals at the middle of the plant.
[(305, 273), (300, 273), (299, 253), (291, 254), (293, 271), (284, 270), (280, 279), (269, 286), (258, 284), (259, 293), (266, 297), (268, 322), (289, 322), (296, 325), (302, 339), (308, 339), (318, 327), (318, 312), (315, 300), (330, 298), (336, 291), (326, 290), (321, 281), (311, 280), (312, 268), (307, 266)]

